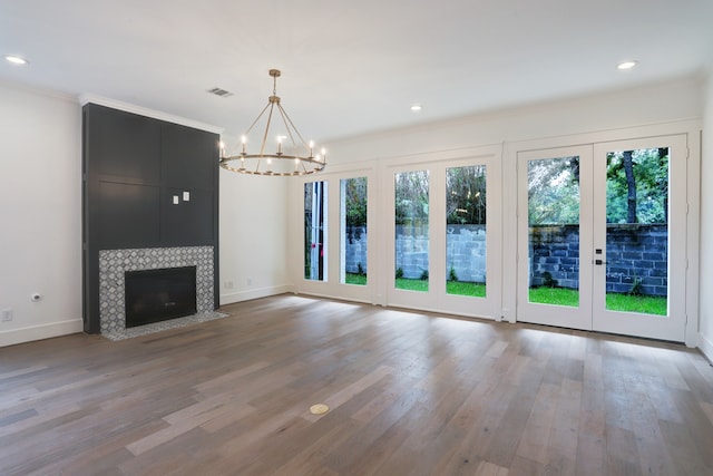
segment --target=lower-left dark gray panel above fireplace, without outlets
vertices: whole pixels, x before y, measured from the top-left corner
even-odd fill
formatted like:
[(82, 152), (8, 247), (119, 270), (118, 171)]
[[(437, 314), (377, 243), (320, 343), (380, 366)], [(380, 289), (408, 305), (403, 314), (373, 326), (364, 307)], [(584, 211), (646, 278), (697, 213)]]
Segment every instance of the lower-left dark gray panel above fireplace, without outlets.
[(159, 243), (159, 187), (100, 182), (98, 195), (96, 230), (102, 250)]

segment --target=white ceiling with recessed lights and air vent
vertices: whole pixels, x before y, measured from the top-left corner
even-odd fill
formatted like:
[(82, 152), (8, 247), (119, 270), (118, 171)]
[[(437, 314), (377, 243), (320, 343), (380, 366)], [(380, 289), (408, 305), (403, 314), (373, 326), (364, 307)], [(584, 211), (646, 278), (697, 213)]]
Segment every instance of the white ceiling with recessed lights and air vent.
[(0, 61), (0, 80), (240, 135), (279, 68), (322, 143), (702, 75), (712, 26), (711, 0), (0, 0), (0, 56), (30, 61)]

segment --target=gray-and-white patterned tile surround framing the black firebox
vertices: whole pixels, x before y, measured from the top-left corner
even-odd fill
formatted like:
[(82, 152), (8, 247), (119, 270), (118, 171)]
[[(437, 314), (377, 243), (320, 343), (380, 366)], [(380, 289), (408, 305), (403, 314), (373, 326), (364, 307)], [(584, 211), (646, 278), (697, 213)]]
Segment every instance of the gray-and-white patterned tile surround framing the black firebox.
[(196, 266), (197, 313), (213, 312), (213, 246), (148, 247), (99, 251), (99, 326), (101, 334), (126, 331), (126, 271)]

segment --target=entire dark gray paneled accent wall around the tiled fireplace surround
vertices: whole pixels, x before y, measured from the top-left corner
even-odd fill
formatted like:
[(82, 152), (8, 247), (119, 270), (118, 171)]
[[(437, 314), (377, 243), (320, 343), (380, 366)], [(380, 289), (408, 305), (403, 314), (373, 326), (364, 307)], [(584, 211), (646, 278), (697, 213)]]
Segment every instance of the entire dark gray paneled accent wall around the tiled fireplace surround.
[(82, 108), (86, 332), (99, 332), (99, 250), (211, 245), (218, 308), (218, 142), (97, 104)]

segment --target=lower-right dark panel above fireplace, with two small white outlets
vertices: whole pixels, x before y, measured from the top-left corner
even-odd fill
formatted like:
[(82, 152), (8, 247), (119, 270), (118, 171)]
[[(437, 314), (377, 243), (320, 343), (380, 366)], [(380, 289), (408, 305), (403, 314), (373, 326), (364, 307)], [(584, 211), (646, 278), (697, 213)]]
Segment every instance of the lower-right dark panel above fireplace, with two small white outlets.
[[(196, 246), (215, 243), (213, 191), (193, 190), (188, 201), (184, 188), (166, 188), (162, 200), (162, 243), (168, 246)], [(174, 201), (177, 200), (177, 204)]]

